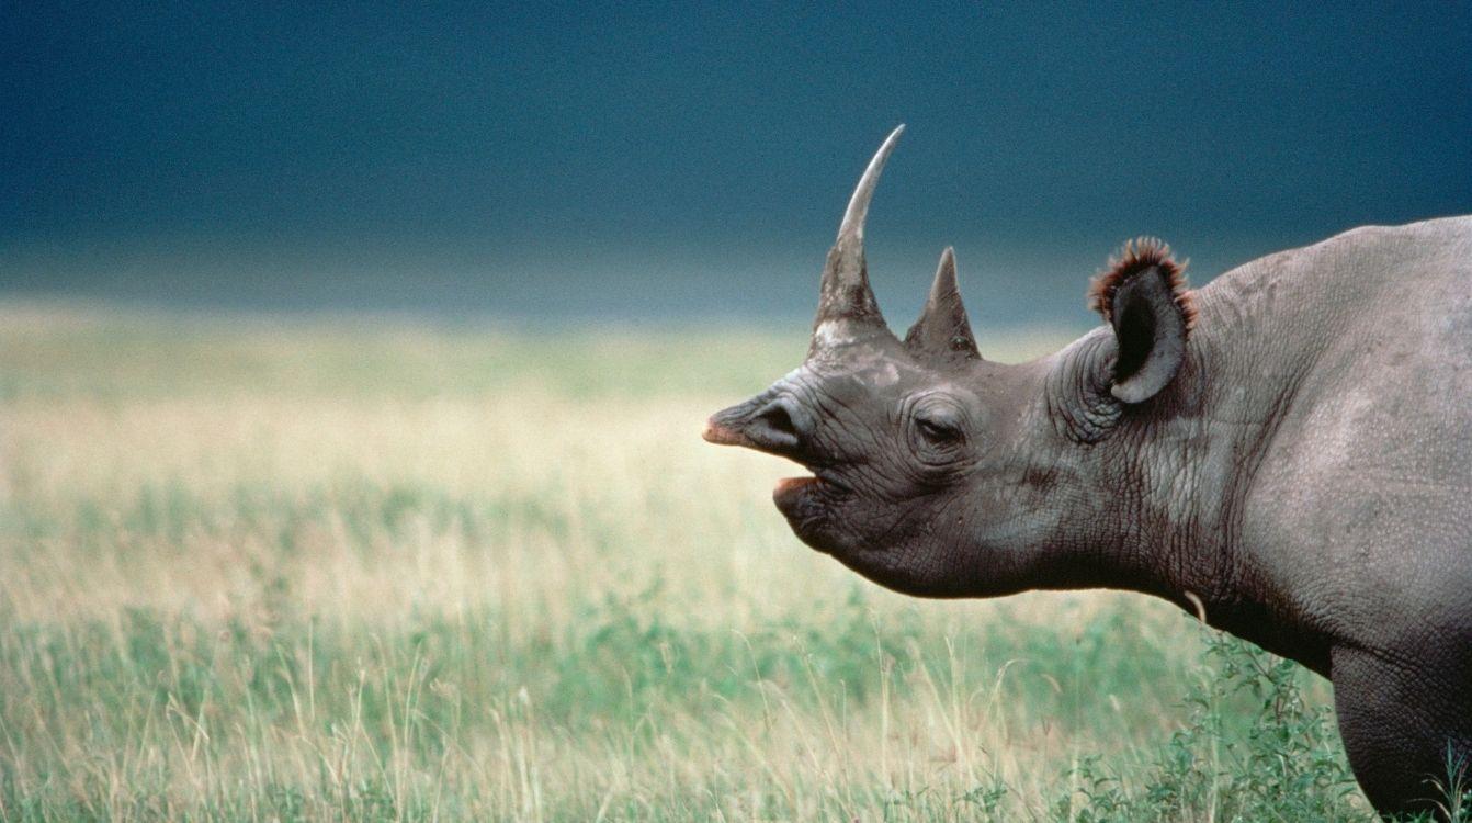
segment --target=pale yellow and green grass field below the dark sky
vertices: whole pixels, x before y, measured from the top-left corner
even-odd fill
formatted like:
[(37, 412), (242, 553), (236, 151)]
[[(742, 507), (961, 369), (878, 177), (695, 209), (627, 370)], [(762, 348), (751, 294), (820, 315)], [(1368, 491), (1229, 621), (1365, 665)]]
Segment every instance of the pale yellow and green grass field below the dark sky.
[(0, 306), (0, 820), (1367, 819), (1291, 664), (798, 543), (795, 331)]

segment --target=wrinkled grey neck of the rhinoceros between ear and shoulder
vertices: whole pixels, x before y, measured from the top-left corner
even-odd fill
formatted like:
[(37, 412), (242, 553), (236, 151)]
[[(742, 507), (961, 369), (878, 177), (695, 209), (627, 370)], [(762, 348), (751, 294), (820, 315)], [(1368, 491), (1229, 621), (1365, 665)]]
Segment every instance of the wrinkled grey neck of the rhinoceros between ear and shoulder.
[(1251, 277), (1203, 289), (1197, 308), (1176, 378), (1150, 403), (1122, 408), (1092, 448), (1104, 502), (1070, 559), (1089, 584), (1204, 610), (1213, 626), (1319, 668), (1325, 649), (1273, 617), (1282, 604), (1272, 564), (1241, 539), (1253, 477), (1298, 383), (1291, 364), (1304, 362), (1294, 350), (1312, 347), (1312, 331), (1285, 327)]

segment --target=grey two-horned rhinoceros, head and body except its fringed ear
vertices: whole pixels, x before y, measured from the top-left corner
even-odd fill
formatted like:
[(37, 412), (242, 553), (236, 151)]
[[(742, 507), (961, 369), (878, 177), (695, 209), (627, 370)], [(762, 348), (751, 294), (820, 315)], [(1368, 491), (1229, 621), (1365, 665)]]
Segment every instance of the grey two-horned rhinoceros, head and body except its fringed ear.
[(810, 468), (777, 508), (891, 589), (1200, 599), (1334, 682), (1379, 811), (1431, 808), (1448, 746), (1472, 754), (1472, 218), (1253, 261), (1195, 292), (1188, 337), (1135, 289), (1113, 327), (1001, 365), (974, 353), (949, 253), (908, 343), (885, 328), (860, 188), (808, 359), (707, 439)]

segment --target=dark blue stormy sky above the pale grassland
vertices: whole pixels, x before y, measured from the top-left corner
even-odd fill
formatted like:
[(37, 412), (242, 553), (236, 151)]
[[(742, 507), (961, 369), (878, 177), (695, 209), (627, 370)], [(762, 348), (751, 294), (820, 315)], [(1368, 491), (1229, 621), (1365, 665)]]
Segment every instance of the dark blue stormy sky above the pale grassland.
[(1132, 234), (1200, 281), (1472, 212), (1466, 1), (6, 3), (0, 38), (0, 293), (805, 314), (898, 122), (907, 311), (946, 243), (983, 317), (1076, 322)]

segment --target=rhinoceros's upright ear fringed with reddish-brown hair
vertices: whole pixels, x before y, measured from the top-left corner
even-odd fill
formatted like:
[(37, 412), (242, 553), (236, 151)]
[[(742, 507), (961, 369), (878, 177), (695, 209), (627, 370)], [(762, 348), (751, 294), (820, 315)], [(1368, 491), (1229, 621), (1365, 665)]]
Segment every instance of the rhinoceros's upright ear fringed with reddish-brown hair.
[(1110, 393), (1126, 403), (1154, 398), (1179, 371), (1195, 321), (1185, 266), (1160, 240), (1130, 240), (1094, 280), (1089, 303), (1119, 346)]

